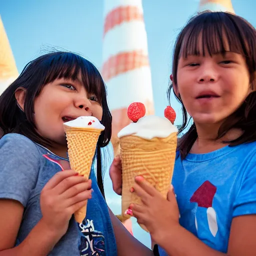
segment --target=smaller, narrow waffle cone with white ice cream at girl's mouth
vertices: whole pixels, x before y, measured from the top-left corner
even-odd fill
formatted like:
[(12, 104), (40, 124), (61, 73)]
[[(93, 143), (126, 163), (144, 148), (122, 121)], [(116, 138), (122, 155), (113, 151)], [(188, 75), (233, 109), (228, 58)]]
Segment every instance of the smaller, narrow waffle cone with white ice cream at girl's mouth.
[[(93, 156), (100, 132), (105, 127), (93, 116), (80, 116), (64, 122), (68, 157), (71, 169), (85, 178), (89, 177)], [(74, 213), (75, 220), (81, 223), (86, 215), (86, 204)]]

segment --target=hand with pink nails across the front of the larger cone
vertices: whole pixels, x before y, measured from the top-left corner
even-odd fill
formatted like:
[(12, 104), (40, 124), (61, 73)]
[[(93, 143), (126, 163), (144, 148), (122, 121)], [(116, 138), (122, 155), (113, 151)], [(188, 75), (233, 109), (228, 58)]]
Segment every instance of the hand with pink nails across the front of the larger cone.
[(142, 205), (130, 204), (132, 214), (138, 223), (145, 225), (157, 243), (164, 233), (179, 225), (179, 210), (173, 187), (170, 187), (165, 199), (143, 177), (137, 176), (133, 189), (141, 198)]

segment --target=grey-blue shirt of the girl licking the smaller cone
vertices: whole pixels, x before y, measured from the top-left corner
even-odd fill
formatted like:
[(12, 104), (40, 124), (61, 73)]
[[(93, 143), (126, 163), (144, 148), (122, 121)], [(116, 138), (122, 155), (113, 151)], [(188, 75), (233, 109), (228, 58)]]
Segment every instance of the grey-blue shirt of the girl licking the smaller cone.
[[(0, 139), (0, 198), (14, 199), (24, 206), (16, 245), (40, 220), (40, 193), (47, 181), (61, 171), (56, 163), (60, 159), (64, 158), (20, 134), (7, 134)], [(93, 192), (86, 217), (78, 224), (72, 216), (66, 234), (48, 255), (117, 255), (108, 208), (97, 185), (94, 164), (92, 166)]]

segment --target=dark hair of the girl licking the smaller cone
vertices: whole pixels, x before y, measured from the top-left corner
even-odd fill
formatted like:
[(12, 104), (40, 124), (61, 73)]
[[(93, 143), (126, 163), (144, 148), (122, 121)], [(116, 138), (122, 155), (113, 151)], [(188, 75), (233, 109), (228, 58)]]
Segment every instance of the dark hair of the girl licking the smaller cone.
[[(97, 68), (88, 60), (72, 52), (57, 51), (44, 54), (30, 61), (5, 91), (0, 95), (0, 137), (4, 134), (20, 133), (43, 146), (50, 141), (41, 137), (34, 124), (34, 100), (43, 86), (58, 78), (76, 79), (81, 74), (82, 83), (88, 93), (94, 93), (101, 103), (101, 123), (105, 126), (96, 148), (97, 182), (104, 196), (100, 148), (108, 144), (111, 137), (112, 117), (107, 106), (106, 88)], [(16, 102), (15, 90), (25, 88), (24, 111)]]

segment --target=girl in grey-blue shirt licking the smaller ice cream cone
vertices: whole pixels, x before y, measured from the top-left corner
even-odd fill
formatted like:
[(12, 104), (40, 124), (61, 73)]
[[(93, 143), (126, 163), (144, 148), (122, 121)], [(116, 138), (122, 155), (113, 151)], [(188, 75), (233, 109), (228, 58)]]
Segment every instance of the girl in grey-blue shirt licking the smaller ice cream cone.
[[(70, 170), (63, 129), (81, 115), (105, 126), (88, 180)], [(110, 136), (105, 85), (92, 63), (53, 52), (25, 66), (0, 96), (0, 256), (152, 254), (106, 205), (100, 149)]]

